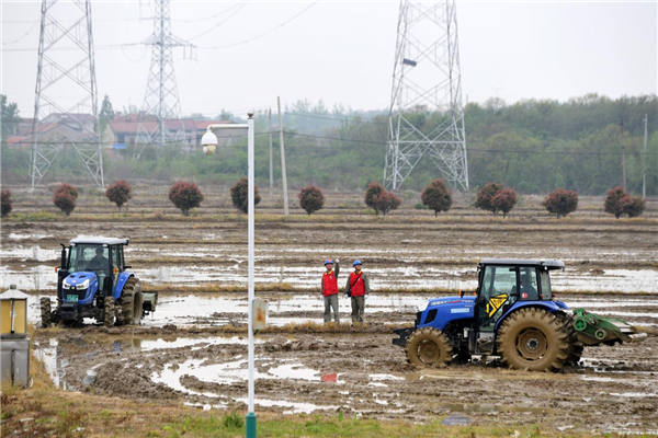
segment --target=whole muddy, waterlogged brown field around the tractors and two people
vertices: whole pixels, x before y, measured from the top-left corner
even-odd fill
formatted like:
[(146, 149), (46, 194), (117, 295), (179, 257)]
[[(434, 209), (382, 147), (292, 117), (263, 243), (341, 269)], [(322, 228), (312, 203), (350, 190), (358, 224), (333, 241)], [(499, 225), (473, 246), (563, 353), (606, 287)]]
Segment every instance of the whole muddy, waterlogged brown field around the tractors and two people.
[[(247, 396), (246, 296), (186, 289), (246, 283), (245, 218), (220, 193), (205, 194), (207, 203), (190, 218), (170, 208), (161, 187), (140, 195), (122, 215), (102, 198), (82, 196), (71, 218), (52, 221), (38, 217), (47, 210), (47, 193), (19, 193), (14, 211), (23, 216), (2, 223), (2, 286), (33, 290), (31, 319), (38, 326), (36, 302), (54, 295), (59, 242), (131, 238), (126, 258), (133, 270), (147, 289), (163, 291), (158, 311), (139, 327), (37, 330), (35, 350), (53, 380), (91, 394), (240, 407)], [(417, 199), (408, 197), (385, 220), (365, 211), (360, 194), (329, 194), (328, 208), (317, 216), (293, 209), (284, 219), (277, 216), (280, 199), (263, 194), (256, 273), (259, 296), (270, 301), (272, 328), (257, 336), (259, 411), (340, 408), (378, 419), (445, 416), (481, 425), (658, 434), (655, 200), (645, 217), (615, 220), (602, 212), (602, 198), (586, 198), (572, 217), (556, 220), (542, 211), (538, 197), (524, 198), (508, 219), (472, 209), (461, 198), (435, 219), (413, 209)], [(305, 326), (320, 322), (317, 284), (328, 256), (364, 262), (373, 286), (365, 327), (311, 333)], [(407, 365), (404, 351), (392, 345), (392, 330), (412, 322), (419, 301), (445, 289), (473, 289), (476, 263), (485, 257), (561, 258), (567, 269), (553, 281), (559, 299), (622, 318), (649, 336), (587, 348), (579, 367), (559, 373), (510, 371), (495, 358), (484, 365), (479, 357), (445, 369)], [(291, 290), (277, 292), (277, 286)], [(341, 319), (349, 320), (347, 300)], [(298, 324), (295, 333), (291, 323)]]

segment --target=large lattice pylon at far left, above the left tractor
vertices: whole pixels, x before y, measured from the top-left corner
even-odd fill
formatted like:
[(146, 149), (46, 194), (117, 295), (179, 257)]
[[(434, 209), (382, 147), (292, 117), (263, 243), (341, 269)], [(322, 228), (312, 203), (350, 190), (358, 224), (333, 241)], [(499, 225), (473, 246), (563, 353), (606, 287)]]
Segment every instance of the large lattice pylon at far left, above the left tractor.
[(67, 145), (103, 188), (97, 94), (90, 0), (43, 0), (30, 165), (33, 188)]

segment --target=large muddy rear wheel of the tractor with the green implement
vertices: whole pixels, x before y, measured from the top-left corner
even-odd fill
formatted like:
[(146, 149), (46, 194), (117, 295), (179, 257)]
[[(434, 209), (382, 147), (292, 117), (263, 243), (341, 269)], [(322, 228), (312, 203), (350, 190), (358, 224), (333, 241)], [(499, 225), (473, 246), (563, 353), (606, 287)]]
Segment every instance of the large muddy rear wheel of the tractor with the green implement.
[(569, 338), (560, 320), (543, 309), (521, 309), (498, 331), (498, 353), (511, 369), (556, 371), (569, 357)]

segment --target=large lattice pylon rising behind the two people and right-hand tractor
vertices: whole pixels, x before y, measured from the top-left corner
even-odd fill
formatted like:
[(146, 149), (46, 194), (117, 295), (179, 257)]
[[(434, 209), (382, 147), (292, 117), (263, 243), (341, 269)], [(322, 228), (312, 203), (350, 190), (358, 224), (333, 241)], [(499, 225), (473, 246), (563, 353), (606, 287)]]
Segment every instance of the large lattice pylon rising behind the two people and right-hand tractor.
[(468, 189), (455, 0), (400, 1), (384, 185), (397, 189), (429, 155)]

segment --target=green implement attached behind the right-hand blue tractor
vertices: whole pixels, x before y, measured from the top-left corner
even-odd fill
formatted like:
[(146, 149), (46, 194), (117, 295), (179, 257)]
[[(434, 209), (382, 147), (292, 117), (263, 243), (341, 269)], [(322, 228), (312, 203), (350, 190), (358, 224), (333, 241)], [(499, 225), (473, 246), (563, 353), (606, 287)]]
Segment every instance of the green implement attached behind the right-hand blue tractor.
[(643, 335), (625, 321), (603, 318), (585, 309), (574, 310), (574, 328), (578, 339), (585, 345), (614, 345), (615, 343), (639, 341)]

